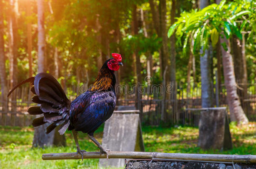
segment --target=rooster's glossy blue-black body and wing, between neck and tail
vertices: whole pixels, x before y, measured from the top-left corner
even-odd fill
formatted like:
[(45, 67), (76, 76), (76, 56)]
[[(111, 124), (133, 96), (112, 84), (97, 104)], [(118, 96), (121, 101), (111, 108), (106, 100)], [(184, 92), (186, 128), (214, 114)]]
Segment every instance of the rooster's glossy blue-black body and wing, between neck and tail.
[(113, 114), (115, 91), (86, 91), (71, 102), (68, 130), (94, 132)]

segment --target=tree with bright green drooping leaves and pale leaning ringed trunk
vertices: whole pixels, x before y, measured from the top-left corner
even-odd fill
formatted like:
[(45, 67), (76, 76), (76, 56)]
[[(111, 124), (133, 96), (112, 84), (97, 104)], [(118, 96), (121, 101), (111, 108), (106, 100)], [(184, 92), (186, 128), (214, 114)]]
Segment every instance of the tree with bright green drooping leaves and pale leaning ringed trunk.
[[(235, 22), (237, 19), (243, 17), (247, 19), (253, 18), (251, 13), (254, 12), (255, 4), (251, 6), (248, 1), (243, 1), (243, 3), (241, 5), (240, 2), (235, 1), (229, 5), (225, 4), (225, 1), (222, 1), (219, 5), (212, 4), (199, 11), (192, 10), (191, 13), (183, 13), (170, 27), (168, 36), (170, 37), (175, 30), (178, 39), (185, 36), (183, 51), (187, 48), (189, 38), (193, 37), (194, 45), (191, 50), (194, 53), (196, 50), (201, 49), (202, 46), (204, 46), (203, 49), (207, 48), (209, 46), (209, 38), (211, 38), (212, 45), (215, 46), (219, 41), (219, 35), (221, 35), (222, 64), (231, 120), (246, 124), (248, 123), (248, 119), (244, 114), (237, 94), (234, 65), (232, 55), (230, 54), (230, 42), (228, 40), (231, 35), (236, 35), (242, 39), (241, 29), (245, 24), (237, 24)], [(231, 10), (236, 9), (237, 6), (241, 6), (242, 8)], [(254, 22), (251, 23), (253, 24)], [(201, 80), (205, 81), (203, 76)]]

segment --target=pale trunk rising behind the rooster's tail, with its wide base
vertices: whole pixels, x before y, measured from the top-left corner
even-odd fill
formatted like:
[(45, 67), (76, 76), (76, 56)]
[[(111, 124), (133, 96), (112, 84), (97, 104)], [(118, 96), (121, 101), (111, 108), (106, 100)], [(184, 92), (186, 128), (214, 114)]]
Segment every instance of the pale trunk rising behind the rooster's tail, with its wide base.
[[(45, 49), (45, 41), (44, 41), (44, 1), (37, 0), (37, 12), (38, 12), (38, 73), (45, 71), (45, 58), (44, 58), (44, 49)], [(40, 117), (40, 115), (37, 115)], [(65, 146), (65, 136), (60, 135), (56, 132), (56, 129), (49, 134), (45, 134), (47, 126), (50, 124), (44, 124), (42, 126), (38, 126), (34, 128), (34, 139), (33, 146), (34, 147), (44, 147), (44, 146), (52, 146), (59, 145), (62, 143)], [(59, 142), (56, 143), (56, 140)]]

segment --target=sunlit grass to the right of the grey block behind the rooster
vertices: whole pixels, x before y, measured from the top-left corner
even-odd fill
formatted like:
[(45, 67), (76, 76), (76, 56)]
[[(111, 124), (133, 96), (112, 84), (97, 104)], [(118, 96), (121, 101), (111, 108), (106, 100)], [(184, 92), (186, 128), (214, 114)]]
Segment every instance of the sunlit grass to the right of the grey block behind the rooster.
[(144, 144), (146, 151), (165, 153), (199, 153), (199, 154), (256, 154), (256, 123), (236, 126), (230, 124), (233, 149), (220, 151), (204, 150), (197, 147), (199, 129), (195, 127), (161, 128), (144, 127)]

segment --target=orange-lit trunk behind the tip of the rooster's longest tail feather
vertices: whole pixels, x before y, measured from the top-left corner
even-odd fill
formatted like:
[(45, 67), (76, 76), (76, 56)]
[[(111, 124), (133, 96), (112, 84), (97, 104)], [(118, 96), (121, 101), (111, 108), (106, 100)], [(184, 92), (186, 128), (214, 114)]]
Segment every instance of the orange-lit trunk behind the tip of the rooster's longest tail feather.
[[(17, 84), (17, 57), (18, 57), (18, 2), (10, 0), (10, 15), (9, 15), (9, 60), (10, 60), (10, 88)], [(16, 111), (16, 92), (12, 95), (11, 110)]]

